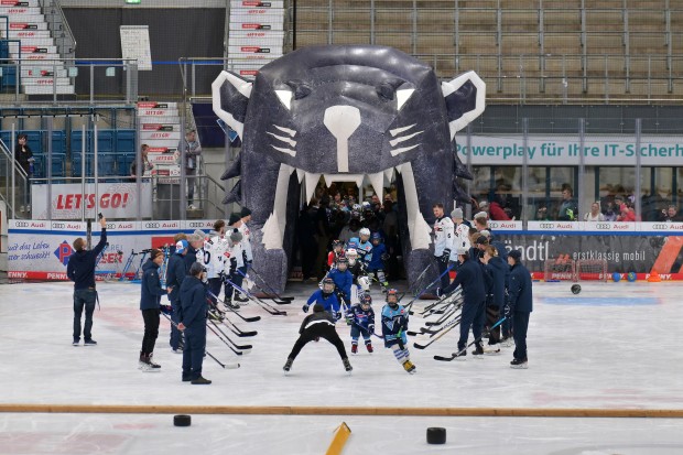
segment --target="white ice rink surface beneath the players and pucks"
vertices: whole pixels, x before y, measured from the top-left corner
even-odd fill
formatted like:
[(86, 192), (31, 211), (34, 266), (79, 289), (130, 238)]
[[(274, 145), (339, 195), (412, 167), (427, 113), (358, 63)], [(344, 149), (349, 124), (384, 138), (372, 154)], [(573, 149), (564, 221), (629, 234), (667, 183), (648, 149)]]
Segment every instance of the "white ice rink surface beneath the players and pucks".
[[(210, 358), (210, 386), (181, 381), (182, 356), (169, 347), (162, 321), (154, 351), (159, 373), (138, 370), (142, 317), (140, 286), (100, 283), (95, 312), (97, 347), (74, 347), (72, 284), (0, 285), (2, 375), (0, 404), (399, 407), (474, 409), (683, 409), (680, 331), (683, 283), (534, 283), (529, 327), (529, 369), (509, 368), (513, 348), (481, 360), (438, 362), (455, 350), (457, 329), (424, 350), (410, 339), (418, 373), (410, 376), (373, 338), (375, 354), (359, 346), (346, 375), (324, 340), (307, 345), (285, 377), (282, 366), (315, 284), (291, 283), (288, 316), (250, 303), (241, 310), (261, 321), (230, 317), (254, 337), (238, 338), (251, 351), (234, 355), (210, 333), (208, 350), (241, 368), (224, 370)], [(383, 304), (372, 290), (375, 311)], [(404, 302), (409, 299), (406, 297)], [(165, 297), (164, 297), (165, 301)], [(420, 301), (416, 308), (429, 304)], [(274, 305), (274, 304), (273, 304)], [(411, 317), (418, 331), (423, 321)], [(337, 327), (347, 349), (348, 327)], [(422, 339), (425, 343), (427, 339)], [(471, 340), (471, 336), (470, 336)], [(469, 349), (471, 350), (471, 349)], [(0, 413), (1, 454), (324, 454), (334, 430), (353, 433), (345, 454), (683, 454), (681, 419), (217, 415), (194, 414), (174, 427), (167, 414)], [(427, 445), (426, 429), (443, 426), (445, 445)]]

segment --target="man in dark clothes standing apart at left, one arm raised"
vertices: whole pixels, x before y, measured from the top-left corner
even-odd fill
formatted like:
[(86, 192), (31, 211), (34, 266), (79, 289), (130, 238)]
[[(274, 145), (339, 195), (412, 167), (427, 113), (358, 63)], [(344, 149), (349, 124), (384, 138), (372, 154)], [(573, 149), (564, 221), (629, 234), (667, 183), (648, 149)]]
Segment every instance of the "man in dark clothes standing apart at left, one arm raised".
[(93, 313), (97, 301), (95, 267), (97, 266), (97, 257), (107, 245), (107, 220), (101, 218), (99, 225), (101, 226), (101, 234), (97, 246), (91, 250), (86, 250), (85, 240), (78, 237), (73, 245), (75, 252), (69, 256), (66, 266), (66, 275), (74, 282), (74, 346), (78, 346), (80, 343), (80, 316), (84, 307), (86, 311), (86, 321), (83, 326), (84, 345), (97, 345), (91, 333)]

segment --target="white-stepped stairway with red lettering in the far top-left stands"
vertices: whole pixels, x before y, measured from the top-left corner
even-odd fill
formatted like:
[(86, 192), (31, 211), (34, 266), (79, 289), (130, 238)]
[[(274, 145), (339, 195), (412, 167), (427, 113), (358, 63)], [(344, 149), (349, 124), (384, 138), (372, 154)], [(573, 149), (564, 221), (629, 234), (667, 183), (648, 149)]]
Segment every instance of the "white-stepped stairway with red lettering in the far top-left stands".
[[(0, 20), (2, 36), (21, 40), (21, 87), (26, 95), (74, 94), (74, 85), (57, 53), (52, 31), (39, 0), (1, 0), (0, 17), (9, 18), (9, 31)], [(19, 46), (9, 45), (10, 58), (19, 58)], [(29, 62), (30, 61), (30, 62)]]

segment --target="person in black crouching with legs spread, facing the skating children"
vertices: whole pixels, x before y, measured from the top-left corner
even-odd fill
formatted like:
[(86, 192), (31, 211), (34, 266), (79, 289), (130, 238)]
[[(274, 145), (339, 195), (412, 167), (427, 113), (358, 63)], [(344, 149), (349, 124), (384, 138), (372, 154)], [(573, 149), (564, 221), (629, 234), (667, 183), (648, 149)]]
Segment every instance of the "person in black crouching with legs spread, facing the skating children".
[(315, 304), (313, 305), (313, 314), (306, 316), (301, 324), (301, 328), (299, 329), (300, 337), (294, 343), (294, 347), (292, 351), (288, 356), (286, 362), (282, 368), (285, 372), (288, 372), (292, 368), (292, 364), (301, 349), (310, 343), (317, 342), (319, 338), (325, 338), (327, 342), (333, 344), (337, 348), (337, 353), (339, 353), (339, 357), (344, 362), (344, 369), (350, 373), (353, 370), (351, 364), (348, 361), (348, 356), (346, 355), (346, 349), (344, 348), (344, 342), (339, 338), (337, 331), (335, 329), (335, 322), (333, 317), (325, 311), (323, 305)]

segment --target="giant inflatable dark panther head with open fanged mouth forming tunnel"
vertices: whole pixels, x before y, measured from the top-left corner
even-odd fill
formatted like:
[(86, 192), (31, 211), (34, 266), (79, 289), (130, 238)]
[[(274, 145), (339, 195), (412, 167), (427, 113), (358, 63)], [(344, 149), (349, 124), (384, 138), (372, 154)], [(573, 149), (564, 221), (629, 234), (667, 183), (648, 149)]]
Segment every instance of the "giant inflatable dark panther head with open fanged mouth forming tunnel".
[(416, 278), (432, 260), (432, 205), (469, 202), (456, 177), (471, 176), (453, 140), (484, 111), (485, 91), (474, 72), (440, 84), (424, 63), (371, 45), (304, 47), (253, 82), (221, 72), (214, 111), (242, 142), (224, 174), (241, 180), (225, 203), (252, 210), (259, 272), (283, 288), (299, 207), (323, 176), (327, 186), (369, 184), (380, 198), (395, 182), (403, 258)]

